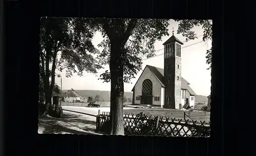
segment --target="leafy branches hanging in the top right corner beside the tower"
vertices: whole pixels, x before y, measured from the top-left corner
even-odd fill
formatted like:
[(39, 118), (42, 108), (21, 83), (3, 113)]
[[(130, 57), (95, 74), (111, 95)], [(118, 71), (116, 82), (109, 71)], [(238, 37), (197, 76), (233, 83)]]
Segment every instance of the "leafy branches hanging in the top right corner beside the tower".
[[(197, 26), (202, 26), (202, 28), (204, 29), (203, 41), (212, 39), (212, 21), (211, 20), (183, 19), (183, 20), (175, 20), (175, 21), (179, 21), (177, 33), (182, 34), (182, 36), (186, 37), (186, 41), (197, 38), (197, 34), (195, 34), (195, 32), (192, 31), (192, 29)], [(207, 70), (211, 69), (211, 48), (206, 51), (206, 63), (210, 65)]]

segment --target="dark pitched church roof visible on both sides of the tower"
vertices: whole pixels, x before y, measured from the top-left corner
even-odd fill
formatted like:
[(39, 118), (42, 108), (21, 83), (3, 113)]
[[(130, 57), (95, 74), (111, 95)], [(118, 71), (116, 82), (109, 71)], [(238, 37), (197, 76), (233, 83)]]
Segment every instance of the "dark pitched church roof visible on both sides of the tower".
[[(163, 77), (164, 77), (164, 69), (161, 68), (157, 68), (155, 66), (151, 66), (151, 65), (146, 65), (146, 67), (148, 67), (151, 72), (153, 73), (154, 76), (156, 76), (157, 80), (159, 81), (159, 83), (161, 84), (162, 87), (165, 87), (164, 83), (163, 83)], [(145, 68), (146, 68), (145, 67)], [(145, 70), (145, 69), (144, 69)], [(143, 71), (144, 71), (143, 70)], [(143, 72), (142, 72), (143, 73)], [(141, 74), (142, 75), (142, 74)], [(140, 79), (140, 77), (139, 77)], [(138, 79), (138, 80), (139, 80)], [(137, 82), (138, 82), (137, 80)], [(135, 83), (135, 85), (137, 84), (137, 82)], [(196, 95), (196, 93), (191, 89), (191, 87), (189, 86), (189, 82), (187, 82), (183, 77), (181, 77), (181, 89), (183, 90), (187, 90), (190, 95)], [(134, 87), (135, 87), (134, 85)], [(134, 87), (132, 92), (134, 91)]]

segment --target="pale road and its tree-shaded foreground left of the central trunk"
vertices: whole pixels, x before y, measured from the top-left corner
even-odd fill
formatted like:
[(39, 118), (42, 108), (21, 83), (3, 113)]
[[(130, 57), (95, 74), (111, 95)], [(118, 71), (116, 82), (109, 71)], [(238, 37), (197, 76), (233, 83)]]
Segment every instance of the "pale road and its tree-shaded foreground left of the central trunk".
[[(61, 106), (62, 109), (73, 110), (91, 115), (98, 115), (101, 112), (110, 112), (110, 107), (81, 107), (81, 106)], [(124, 108), (131, 109), (131, 108)], [(63, 118), (53, 118), (50, 116), (38, 118), (38, 133), (61, 133), (61, 134), (82, 134), (101, 135), (95, 132), (96, 117), (83, 115), (63, 110)]]

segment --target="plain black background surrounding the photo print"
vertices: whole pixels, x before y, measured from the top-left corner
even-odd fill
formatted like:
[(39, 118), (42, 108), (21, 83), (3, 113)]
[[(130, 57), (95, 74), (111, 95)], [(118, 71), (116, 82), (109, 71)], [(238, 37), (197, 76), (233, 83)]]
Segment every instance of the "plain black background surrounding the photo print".
[[(6, 155), (254, 155), (255, 30), (253, 10), (245, 10), (245, 2), (18, 0), (5, 5)], [(41, 16), (213, 19), (211, 137), (38, 135)]]

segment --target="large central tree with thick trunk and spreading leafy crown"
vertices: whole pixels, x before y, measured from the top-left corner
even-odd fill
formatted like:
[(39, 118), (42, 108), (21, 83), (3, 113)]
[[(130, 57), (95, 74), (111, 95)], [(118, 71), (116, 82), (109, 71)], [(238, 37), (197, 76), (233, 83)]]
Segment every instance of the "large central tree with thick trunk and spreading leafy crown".
[[(74, 32), (72, 34), (74, 34), (73, 36), (75, 36), (78, 44), (82, 44), (80, 40), (86, 42), (82, 44), (83, 49), (92, 50), (93, 44), (91, 44), (91, 39), (95, 31), (100, 31), (103, 36), (102, 42), (98, 45), (103, 50), (98, 55), (98, 58), (101, 65), (108, 64), (110, 66), (110, 71), (105, 71), (100, 75), (99, 79), (102, 79), (104, 82), (111, 82), (110, 133), (113, 135), (124, 135), (123, 83), (130, 82), (142, 70), (142, 57), (150, 58), (155, 55), (155, 41), (161, 40), (163, 35), (169, 35), (167, 29), (169, 25), (168, 20), (74, 18), (69, 21), (69, 24), (72, 24)], [(69, 39), (70, 37), (66, 38)], [(74, 38), (72, 39), (74, 40)], [(71, 48), (68, 51), (72, 51), (68, 53), (69, 55), (67, 55), (66, 51), (63, 51), (66, 54), (63, 55), (63, 57), (66, 56), (64, 58), (73, 57), (73, 49), (81, 51), (79, 46), (76, 46), (77, 43), (73, 43), (71, 44), (72, 46), (69, 46)], [(90, 61), (88, 62), (88, 60)], [(92, 64), (94, 65), (95, 61), (92, 61), (91, 58), (87, 59), (86, 63), (81, 62), (83, 65), (91, 66)], [(90, 64), (90, 62), (93, 63)], [(80, 61), (75, 61), (75, 63), (80, 63)], [(67, 69), (74, 69), (73, 64), (73, 61), (69, 61), (69, 68)], [(91, 71), (93, 72), (93, 70)]]

